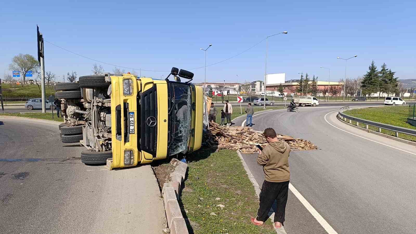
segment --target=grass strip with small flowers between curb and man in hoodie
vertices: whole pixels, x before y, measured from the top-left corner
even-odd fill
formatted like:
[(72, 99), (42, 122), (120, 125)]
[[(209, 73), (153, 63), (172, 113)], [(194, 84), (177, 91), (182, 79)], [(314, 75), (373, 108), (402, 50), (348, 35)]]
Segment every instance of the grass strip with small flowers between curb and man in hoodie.
[(200, 150), (188, 157), (181, 203), (195, 233), (275, 233), (272, 222), (250, 223), (258, 198), (235, 151)]

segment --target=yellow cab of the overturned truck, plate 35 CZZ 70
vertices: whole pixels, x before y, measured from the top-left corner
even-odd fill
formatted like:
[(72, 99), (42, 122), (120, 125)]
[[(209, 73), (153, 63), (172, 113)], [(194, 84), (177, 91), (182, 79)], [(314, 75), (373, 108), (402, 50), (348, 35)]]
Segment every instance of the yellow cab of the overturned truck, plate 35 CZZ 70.
[(111, 102), (115, 131), (111, 131), (113, 157), (107, 159), (110, 169), (149, 163), (201, 147), (201, 87), (123, 74), (111, 76)]

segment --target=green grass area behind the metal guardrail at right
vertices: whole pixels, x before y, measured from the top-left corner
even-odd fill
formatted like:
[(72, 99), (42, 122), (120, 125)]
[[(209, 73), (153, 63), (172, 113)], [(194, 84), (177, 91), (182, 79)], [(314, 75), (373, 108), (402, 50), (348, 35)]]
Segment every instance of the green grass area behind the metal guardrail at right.
[[(344, 114), (351, 115), (360, 119), (367, 119), (374, 122), (379, 122), (383, 124), (390, 124), (398, 127), (406, 127), (410, 129), (416, 129), (416, 127), (407, 123), (407, 117), (409, 116), (409, 106), (386, 106), (386, 107), (368, 107), (368, 108), (359, 108), (353, 110), (344, 111)], [(349, 120), (347, 120), (349, 121)], [(352, 124), (356, 125), (357, 122), (352, 121)], [(359, 123), (359, 127), (366, 127), (365, 124)], [(369, 126), (370, 130), (379, 131), (378, 127)], [(381, 129), (381, 133), (396, 136), (395, 132), (389, 131), (386, 129)], [(416, 137), (399, 133), (399, 137), (416, 141)]]

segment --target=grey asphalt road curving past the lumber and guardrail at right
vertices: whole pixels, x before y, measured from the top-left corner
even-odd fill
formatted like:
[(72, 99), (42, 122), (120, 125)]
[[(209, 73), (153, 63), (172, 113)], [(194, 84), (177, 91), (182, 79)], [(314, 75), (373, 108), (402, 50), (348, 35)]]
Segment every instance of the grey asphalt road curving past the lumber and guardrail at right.
[[(347, 126), (338, 108), (302, 108), (253, 117), (253, 128), (308, 139), (319, 150), (292, 151), (290, 182), (338, 233), (414, 233), (416, 224), (416, 148)], [(241, 124), (238, 119), (236, 125)], [(363, 139), (361, 137), (368, 139)], [(372, 141), (370, 141), (371, 139)], [(382, 144), (376, 143), (381, 142)], [(385, 144), (385, 145), (383, 145)], [(388, 147), (392, 145), (398, 149)], [(257, 155), (243, 154), (258, 184), (264, 181)], [(287, 233), (324, 233), (321, 225), (289, 192)]]

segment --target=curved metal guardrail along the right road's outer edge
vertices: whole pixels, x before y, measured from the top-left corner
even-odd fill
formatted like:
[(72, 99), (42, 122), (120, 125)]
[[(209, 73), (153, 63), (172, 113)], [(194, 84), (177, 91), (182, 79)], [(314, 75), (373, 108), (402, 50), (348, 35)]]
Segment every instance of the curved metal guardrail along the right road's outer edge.
[(378, 127), (380, 133), (381, 133), (381, 129), (386, 129), (386, 130), (395, 132), (396, 137), (399, 137), (399, 133), (416, 136), (416, 130), (414, 129), (405, 128), (405, 127), (397, 127), (397, 126), (390, 125), (390, 124), (382, 124), (382, 123), (370, 121), (367, 119), (360, 119), (357, 117), (353, 117), (351, 115), (345, 115), (343, 112), (349, 109), (350, 109), (349, 106), (340, 108), (338, 111), (338, 117), (341, 119), (344, 118), (344, 121), (347, 121), (347, 119), (349, 119), (350, 124), (351, 124), (351, 121), (355, 121), (357, 122), (357, 126), (359, 126), (359, 123), (366, 124), (366, 129), (368, 129), (369, 126)]

